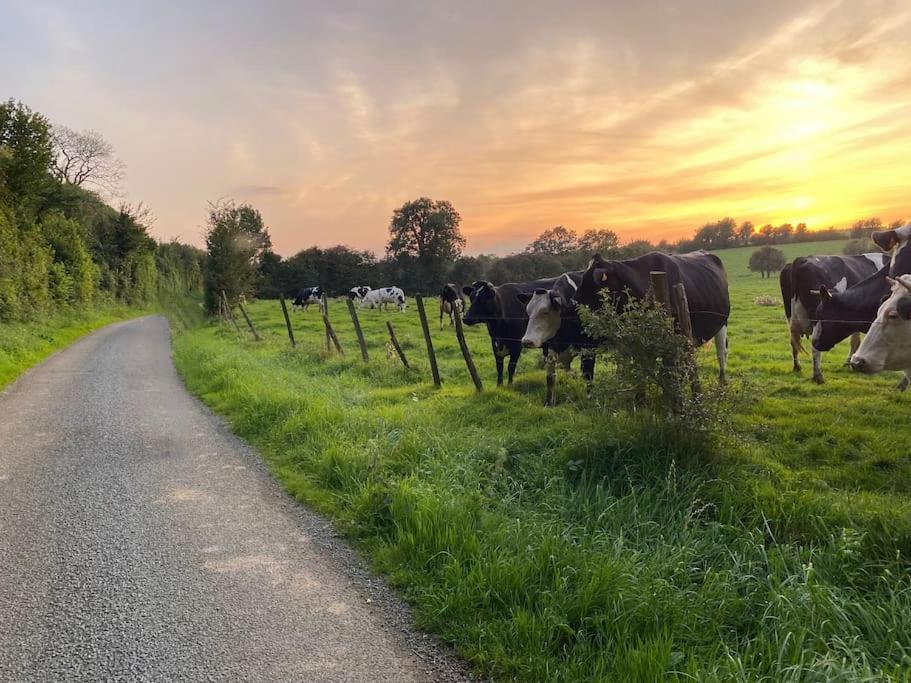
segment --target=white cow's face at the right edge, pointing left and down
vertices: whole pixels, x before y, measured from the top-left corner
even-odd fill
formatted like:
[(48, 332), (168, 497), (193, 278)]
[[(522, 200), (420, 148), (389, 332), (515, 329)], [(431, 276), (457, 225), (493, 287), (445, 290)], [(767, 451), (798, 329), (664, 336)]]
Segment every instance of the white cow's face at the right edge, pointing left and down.
[(892, 294), (851, 356), (851, 367), (858, 372), (911, 369), (911, 275), (889, 278), (889, 284)]

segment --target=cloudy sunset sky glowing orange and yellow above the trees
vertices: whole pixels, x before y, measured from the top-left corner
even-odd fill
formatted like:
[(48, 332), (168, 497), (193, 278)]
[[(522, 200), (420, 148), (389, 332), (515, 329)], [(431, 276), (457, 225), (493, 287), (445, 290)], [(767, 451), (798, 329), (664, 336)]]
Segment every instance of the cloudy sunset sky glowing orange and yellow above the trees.
[(0, 97), (100, 131), (160, 239), (230, 197), (286, 256), (420, 196), (473, 254), (911, 217), (907, 0), (0, 0)]

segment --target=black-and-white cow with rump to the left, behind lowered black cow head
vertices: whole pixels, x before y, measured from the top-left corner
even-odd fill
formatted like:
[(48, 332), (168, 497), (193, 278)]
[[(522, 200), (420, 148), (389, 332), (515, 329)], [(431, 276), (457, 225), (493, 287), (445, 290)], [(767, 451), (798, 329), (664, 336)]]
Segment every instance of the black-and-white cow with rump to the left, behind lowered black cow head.
[[(870, 275), (876, 273), (888, 261), (886, 254), (860, 254), (858, 256), (801, 256), (781, 271), (779, 284), (785, 315), (791, 332), (791, 356), (794, 372), (800, 372), (798, 354), (803, 351), (802, 337), (809, 337), (819, 318), (816, 309), (820, 292), (825, 289), (844, 292)], [(860, 344), (860, 333), (854, 331), (851, 338), (852, 352)], [(844, 337), (842, 337), (844, 339)], [(839, 339), (838, 341), (841, 341)], [(813, 346), (813, 381), (822, 384), (820, 364), (821, 349)], [(831, 347), (829, 347), (831, 348)]]

